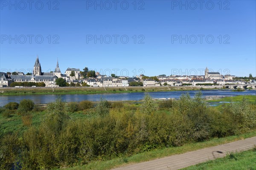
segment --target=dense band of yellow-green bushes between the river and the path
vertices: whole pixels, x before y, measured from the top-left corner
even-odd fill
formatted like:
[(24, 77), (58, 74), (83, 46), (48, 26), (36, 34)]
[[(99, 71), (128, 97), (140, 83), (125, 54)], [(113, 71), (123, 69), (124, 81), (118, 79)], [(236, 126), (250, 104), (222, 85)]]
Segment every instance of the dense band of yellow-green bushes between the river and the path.
[(146, 95), (140, 107), (129, 109), (101, 99), (95, 107), (84, 104), (90, 115), (82, 120), (70, 119), (72, 112), (66, 109), (80, 104), (69, 105), (57, 99), (48, 104), (47, 116), (39, 127), (29, 127), (22, 137), (2, 136), (0, 169), (72, 167), (256, 129), (256, 107), (246, 99), (218, 109), (208, 106), (200, 93), (159, 105)]

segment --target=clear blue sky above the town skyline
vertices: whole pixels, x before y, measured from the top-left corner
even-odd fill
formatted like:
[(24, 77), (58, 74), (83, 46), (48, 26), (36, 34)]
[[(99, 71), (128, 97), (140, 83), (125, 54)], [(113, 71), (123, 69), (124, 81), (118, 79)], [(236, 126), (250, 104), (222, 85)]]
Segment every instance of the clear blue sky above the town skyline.
[[(86, 66), (105, 74), (107, 69), (119, 69), (118, 76), (123, 69), (129, 76), (134, 76), (134, 69), (136, 74), (143, 69), (148, 76), (184, 75), (195, 74), (193, 70), (200, 74), (198, 69), (208, 67), (222, 74), (256, 76), (255, 0), (222, 1), (221, 6), (219, 0), (182, 1), (187, 6), (180, 0), (136, 1), (136, 6), (134, 0), (119, 0), (116, 6), (112, 0), (96, 1), (102, 6), (95, 6), (94, 0), (58, 0), (51, 6), (48, 0), (23, 1), (26, 6), (20, 1), (12, 1), (14, 6), (9, 0), (0, 2), (1, 71), (26, 72), (38, 55), (44, 72), (53, 70), (58, 58), (62, 73), (68, 67)], [(102, 44), (94, 42), (94, 35), (102, 35)]]

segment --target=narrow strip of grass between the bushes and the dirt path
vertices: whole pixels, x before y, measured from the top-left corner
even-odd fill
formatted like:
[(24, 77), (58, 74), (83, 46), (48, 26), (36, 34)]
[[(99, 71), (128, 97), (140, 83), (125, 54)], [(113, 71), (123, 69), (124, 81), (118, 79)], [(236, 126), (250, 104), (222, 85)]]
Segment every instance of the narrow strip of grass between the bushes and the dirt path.
[(205, 147), (217, 146), (219, 144), (225, 144), (225, 143), (229, 143), (229, 142), (233, 142), (233, 141), (237, 141), (245, 138), (250, 138), (255, 135), (256, 135), (256, 131), (253, 131), (253, 132), (245, 133), (238, 136), (214, 138), (205, 142), (184, 144), (183, 146), (180, 146), (180, 147), (167, 147), (163, 149), (156, 149), (148, 152), (135, 154), (130, 157), (123, 156), (123, 157), (119, 157), (111, 160), (93, 161), (86, 165), (75, 166), (70, 168), (61, 168), (60, 170), (109, 170), (115, 167), (126, 166), (129, 164), (139, 163), (143, 161), (150, 161), (153, 159), (163, 158), (165, 156), (171, 156), (175, 154), (186, 153), (193, 150), (203, 149)]

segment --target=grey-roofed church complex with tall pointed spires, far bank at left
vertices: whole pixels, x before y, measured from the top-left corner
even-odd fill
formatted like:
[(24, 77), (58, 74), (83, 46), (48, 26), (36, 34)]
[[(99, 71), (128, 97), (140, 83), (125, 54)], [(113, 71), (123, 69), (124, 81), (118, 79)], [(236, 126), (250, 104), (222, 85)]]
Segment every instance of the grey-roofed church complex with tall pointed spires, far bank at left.
[(4, 74), (0, 78), (0, 86), (6, 87), (9, 86), (12, 82), (44, 82), (45, 87), (58, 87), (58, 85), (56, 85), (55, 83), (55, 80), (61, 77), (63, 79), (66, 79), (66, 81), (68, 80), (67, 74), (61, 74), (61, 70), (58, 65), (58, 60), (56, 68), (53, 72), (42, 72), (41, 64), (37, 56), (32, 75)]

